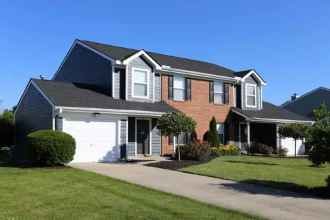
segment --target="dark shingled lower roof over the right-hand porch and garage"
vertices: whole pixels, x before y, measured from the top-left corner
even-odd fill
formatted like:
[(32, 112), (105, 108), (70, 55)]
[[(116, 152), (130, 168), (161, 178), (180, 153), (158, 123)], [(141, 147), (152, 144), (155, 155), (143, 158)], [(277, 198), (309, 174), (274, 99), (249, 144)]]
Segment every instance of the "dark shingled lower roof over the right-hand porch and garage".
[(252, 118), (283, 119), (283, 120), (311, 121), (311, 122), (313, 121), (311, 119), (302, 117), (293, 112), (280, 108), (277, 105), (273, 105), (272, 103), (265, 101), (263, 101), (262, 110), (242, 110), (240, 108), (232, 108), (232, 109)]

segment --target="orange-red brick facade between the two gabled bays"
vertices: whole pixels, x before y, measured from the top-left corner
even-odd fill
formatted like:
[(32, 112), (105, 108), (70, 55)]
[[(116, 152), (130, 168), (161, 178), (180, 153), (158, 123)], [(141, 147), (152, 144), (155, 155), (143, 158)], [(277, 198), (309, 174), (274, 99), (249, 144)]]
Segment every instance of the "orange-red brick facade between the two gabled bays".
[[(192, 78), (191, 101), (174, 101), (168, 99), (168, 76), (162, 75), (162, 101), (166, 101), (177, 110), (184, 112), (197, 122), (197, 138), (202, 139), (214, 116), (217, 123), (229, 123), (229, 144), (233, 144), (233, 124), (230, 109), (233, 106), (233, 85), (229, 86), (229, 105), (209, 102), (209, 81)], [(173, 146), (168, 138), (162, 137), (162, 155), (173, 153)]]

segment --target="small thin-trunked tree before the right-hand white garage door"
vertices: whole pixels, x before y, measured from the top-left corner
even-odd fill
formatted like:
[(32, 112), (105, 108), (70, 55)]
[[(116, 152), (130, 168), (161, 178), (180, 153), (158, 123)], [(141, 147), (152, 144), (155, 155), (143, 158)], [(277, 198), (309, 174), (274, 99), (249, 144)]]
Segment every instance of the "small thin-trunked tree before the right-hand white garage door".
[(306, 124), (287, 124), (279, 128), (281, 138), (295, 139), (295, 156), (297, 155), (297, 139), (304, 139), (308, 126)]

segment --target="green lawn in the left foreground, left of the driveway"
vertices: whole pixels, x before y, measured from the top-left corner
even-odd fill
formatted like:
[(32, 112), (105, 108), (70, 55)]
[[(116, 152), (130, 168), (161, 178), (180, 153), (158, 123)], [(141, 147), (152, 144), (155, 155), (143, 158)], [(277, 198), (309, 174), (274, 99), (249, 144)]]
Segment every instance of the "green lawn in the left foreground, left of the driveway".
[(0, 163), (0, 219), (261, 219), (78, 169)]

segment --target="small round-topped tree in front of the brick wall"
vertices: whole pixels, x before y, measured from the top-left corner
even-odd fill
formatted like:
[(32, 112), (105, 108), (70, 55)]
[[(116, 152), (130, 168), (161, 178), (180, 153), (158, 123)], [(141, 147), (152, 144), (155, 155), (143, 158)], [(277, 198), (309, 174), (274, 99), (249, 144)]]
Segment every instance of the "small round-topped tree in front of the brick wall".
[(158, 119), (157, 129), (160, 130), (160, 135), (168, 137), (173, 135), (178, 140), (179, 161), (180, 157), (180, 144), (179, 135), (188, 131), (195, 130), (196, 122), (191, 117), (183, 113), (167, 113)]

